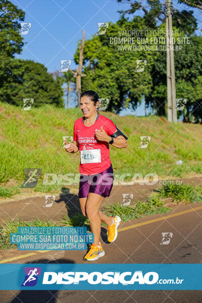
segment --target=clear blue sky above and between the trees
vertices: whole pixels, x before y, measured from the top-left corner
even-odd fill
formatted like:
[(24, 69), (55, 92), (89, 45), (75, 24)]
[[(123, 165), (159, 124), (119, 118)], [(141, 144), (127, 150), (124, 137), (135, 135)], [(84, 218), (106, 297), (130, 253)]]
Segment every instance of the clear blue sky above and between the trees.
[[(116, 0), (11, 0), (25, 12), (25, 22), (31, 22), (31, 29), (24, 35), (23, 52), (17, 58), (30, 59), (42, 63), (48, 72), (60, 69), (60, 60), (73, 60), (77, 42), (90, 39), (97, 32), (97, 22), (116, 22), (118, 10), (126, 10), (128, 4), (119, 4)], [(162, 0), (162, 3), (164, 1)], [(181, 10), (185, 6), (175, 6)], [(195, 10), (194, 10), (195, 11)], [(197, 17), (197, 11), (196, 11)], [(132, 17), (132, 16), (131, 16)], [(73, 104), (72, 104), (73, 106)], [(127, 114), (124, 111), (122, 114)], [(136, 114), (144, 115), (144, 105)]]

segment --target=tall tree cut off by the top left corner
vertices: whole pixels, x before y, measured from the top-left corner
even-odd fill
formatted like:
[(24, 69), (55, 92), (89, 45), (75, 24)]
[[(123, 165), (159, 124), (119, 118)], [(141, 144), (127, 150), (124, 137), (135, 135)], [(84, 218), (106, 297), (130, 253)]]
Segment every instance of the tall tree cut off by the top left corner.
[(22, 52), (24, 45), (20, 34), (20, 21), (25, 13), (7, 0), (0, 2), (0, 87), (3, 85), (11, 59)]

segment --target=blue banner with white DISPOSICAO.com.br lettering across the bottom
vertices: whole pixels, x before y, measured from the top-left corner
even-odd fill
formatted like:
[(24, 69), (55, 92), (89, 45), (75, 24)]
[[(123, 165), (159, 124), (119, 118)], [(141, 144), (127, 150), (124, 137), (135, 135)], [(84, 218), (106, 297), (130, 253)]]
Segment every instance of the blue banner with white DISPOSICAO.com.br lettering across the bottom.
[(0, 264), (4, 290), (201, 290), (202, 264)]

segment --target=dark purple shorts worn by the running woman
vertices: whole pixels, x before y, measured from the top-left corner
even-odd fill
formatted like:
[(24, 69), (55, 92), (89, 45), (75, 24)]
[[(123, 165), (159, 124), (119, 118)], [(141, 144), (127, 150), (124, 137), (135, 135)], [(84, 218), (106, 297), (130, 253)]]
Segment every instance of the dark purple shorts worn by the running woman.
[(79, 198), (85, 198), (89, 192), (97, 193), (103, 197), (109, 197), (114, 180), (113, 167), (96, 175), (80, 175)]

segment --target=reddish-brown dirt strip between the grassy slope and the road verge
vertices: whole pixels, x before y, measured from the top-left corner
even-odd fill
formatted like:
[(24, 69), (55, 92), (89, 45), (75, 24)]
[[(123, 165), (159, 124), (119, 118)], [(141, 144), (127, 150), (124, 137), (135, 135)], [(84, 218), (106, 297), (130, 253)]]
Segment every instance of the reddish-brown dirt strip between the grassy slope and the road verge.
[[(192, 178), (176, 178), (173, 179), (182, 181), (182, 184), (190, 184), (199, 186), (202, 182), (202, 176), (195, 176)], [(159, 182), (158, 182), (159, 183)], [(156, 190), (159, 184), (155, 185), (114, 185), (110, 197), (106, 197), (103, 201), (102, 207), (106, 204), (121, 203), (123, 200), (123, 193), (133, 194), (131, 205), (140, 199), (144, 201), (147, 196), (151, 194), (152, 190)], [(74, 190), (75, 191), (75, 190)], [(70, 216), (80, 211), (78, 194), (72, 193), (72, 189), (67, 188), (65, 191), (57, 194), (56, 200), (52, 207), (44, 207), (45, 195), (49, 193), (37, 193), (35, 196), (26, 197), (24, 199), (2, 198), (0, 199), (1, 219), (12, 220), (21, 218), (24, 221), (30, 221), (38, 217), (40, 220), (57, 221), (61, 219), (64, 214)], [(166, 206), (174, 207), (176, 204), (172, 203), (170, 198), (166, 199)], [(68, 211), (69, 209), (69, 211)], [(69, 212), (69, 213), (68, 213)]]

